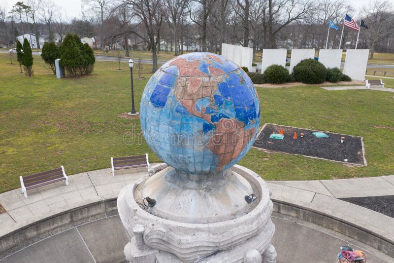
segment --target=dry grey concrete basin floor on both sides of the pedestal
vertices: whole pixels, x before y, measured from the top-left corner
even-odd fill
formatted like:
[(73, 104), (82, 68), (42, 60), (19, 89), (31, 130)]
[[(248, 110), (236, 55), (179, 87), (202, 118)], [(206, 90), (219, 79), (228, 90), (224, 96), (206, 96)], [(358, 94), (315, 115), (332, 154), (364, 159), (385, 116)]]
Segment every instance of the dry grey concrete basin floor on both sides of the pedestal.
[[(272, 221), (276, 225), (272, 244), (278, 253), (277, 263), (286, 263), (289, 259), (295, 263), (336, 263), (339, 247), (343, 245), (363, 250), (368, 262), (390, 263), (390, 258), (383, 253), (327, 228), (282, 215), (273, 215)], [(123, 248), (128, 241), (119, 216), (112, 215), (70, 226), (10, 254), (0, 262), (42, 263), (43, 259), (57, 263), (126, 262)]]

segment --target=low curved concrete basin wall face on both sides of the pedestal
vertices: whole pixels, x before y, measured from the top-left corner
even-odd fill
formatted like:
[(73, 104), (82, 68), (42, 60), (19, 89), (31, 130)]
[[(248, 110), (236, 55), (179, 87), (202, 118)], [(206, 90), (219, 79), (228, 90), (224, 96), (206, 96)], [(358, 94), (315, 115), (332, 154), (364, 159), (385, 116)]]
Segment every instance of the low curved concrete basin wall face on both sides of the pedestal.
[[(273, 212), (275, 213), (321, 225), (368, 244), (394, 258), (394, 240), (382, 236), (372, 229), (299, 204), (278, 199), (272, 199), (272, 201), (274, 203)], [(0, 260), (22, 249), (26, 244), (33, 243), (37, 238), (48, 232), (56, 232), (56, 229), (66, 225), (79, 225), (90, 218), (104, 218), (117, 213), (117, 198), (110, 198), (75, 207), (22, 226), (0, 237)]]

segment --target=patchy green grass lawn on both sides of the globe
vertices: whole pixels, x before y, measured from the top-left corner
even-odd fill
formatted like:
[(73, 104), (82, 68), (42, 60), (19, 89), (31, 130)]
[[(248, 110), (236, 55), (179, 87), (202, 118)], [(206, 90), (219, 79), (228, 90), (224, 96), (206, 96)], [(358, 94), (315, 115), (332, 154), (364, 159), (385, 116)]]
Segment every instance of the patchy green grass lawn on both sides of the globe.
[[(92, 75), (56, 79), (34, 56), (34, 76), (19, 74), (0, 54), (0, 192), (18, 188), (20, 175), (64, 165), (71, 175), (110, 167), (111, 156), (148, 152), (132, 143), (139, 119), (130, 111), (127, 63), (97, 62)], [(151, 67), (144, 65), (149, 77)], [(136, 75), (134, 75), (136, 76)], [(136, 109), (147, 79), (134, 79)], [(394, 174), (393, 94), (373, 90), (327, 91), (318, 86), (257, 88), (261, 123), (270, 122), (364, 137), (368, 166), (252, 149), (240, 164), (266, 180), (314, 180)]]

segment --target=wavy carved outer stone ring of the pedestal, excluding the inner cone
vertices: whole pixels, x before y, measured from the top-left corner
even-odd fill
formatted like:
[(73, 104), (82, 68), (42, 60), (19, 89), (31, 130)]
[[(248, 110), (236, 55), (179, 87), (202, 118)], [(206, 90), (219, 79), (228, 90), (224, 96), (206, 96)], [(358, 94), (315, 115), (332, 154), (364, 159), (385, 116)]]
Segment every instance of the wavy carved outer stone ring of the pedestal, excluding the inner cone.
[(232, 170), (250, 183), (257, 199), (243, 215), (214, 223), (162, 218), (136, 201), (136, 189), (144, 182), (123, 188), (118, 211), (130, 238), (126, 259), (133, 263), (275, 263), (275, 248), (270, 244), (275, 225), (269, 190), (253, 171), (239, 165)]

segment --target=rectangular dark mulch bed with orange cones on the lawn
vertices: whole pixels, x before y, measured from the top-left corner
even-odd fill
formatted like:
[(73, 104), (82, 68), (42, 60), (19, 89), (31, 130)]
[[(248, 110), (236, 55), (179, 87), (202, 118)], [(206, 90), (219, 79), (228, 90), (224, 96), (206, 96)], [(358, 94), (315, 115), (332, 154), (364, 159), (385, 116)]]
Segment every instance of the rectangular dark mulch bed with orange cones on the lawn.
[[(280, 129), (283, 129), (283, 135), (285, 136), (283, 140), (269, 138), (272, 133), (279, 134)], [(294, 132), (297, 133), (297, 139), (293, 139)], [(328, 138), (317, 138), (312, 132), (319, 131), (266, 124), (253, 146), (268, 151), (301, 154), (310, 157), (347, 162), (350, 164), (364, 165), (361, 137), (324, 132), (328, 135)], [(303, 139), (301, 139), (300, 133), (304, 133)], [(344, 143), (341, 143), (342, 136), (345, 137)], [(345, 159), (347, 159), (347, 161), (345, 161)]]

